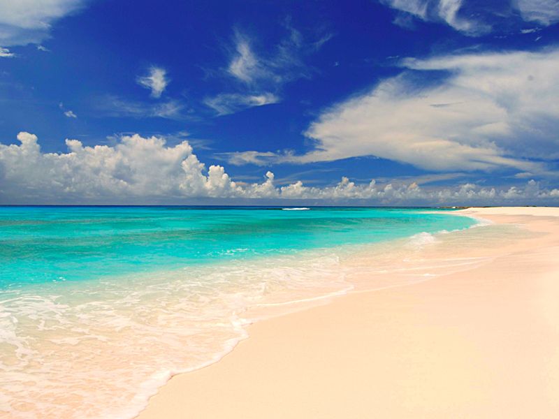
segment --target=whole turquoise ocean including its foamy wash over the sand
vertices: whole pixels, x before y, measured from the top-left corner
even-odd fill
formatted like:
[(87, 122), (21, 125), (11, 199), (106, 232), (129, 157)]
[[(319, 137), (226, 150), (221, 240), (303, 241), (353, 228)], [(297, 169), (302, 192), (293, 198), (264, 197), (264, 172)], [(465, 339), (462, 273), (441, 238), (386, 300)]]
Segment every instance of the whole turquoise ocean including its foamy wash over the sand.
[(354, 289), (354, 255), (372, 278), (477, 223), (426, 208), (0, 207), (0, 416), (132, 418), (252, 321)]

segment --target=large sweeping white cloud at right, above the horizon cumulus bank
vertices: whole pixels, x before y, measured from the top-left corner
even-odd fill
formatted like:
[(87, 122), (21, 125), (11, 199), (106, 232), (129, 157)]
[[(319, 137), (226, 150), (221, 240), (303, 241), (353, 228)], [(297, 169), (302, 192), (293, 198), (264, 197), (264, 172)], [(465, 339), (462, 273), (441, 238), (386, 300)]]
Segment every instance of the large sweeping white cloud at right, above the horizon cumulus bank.
[(264, 166), (377, 156), (439, 172), (557, 174), (558, 48), (442, 55), (400, 65), (400, 75), (310, 124), (310, 152), (238, 152), (229, 161)]

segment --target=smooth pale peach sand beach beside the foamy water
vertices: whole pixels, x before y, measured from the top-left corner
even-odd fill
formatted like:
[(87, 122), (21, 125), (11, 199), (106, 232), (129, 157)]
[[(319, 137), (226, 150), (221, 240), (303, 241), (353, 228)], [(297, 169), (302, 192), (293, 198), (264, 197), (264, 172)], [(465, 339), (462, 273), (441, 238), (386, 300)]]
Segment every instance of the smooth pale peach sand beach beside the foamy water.
[(465, 272), (255, 323), (139, 418), (559, 418), (559, 208), (464, 212), (532, 234), (481, 243)]

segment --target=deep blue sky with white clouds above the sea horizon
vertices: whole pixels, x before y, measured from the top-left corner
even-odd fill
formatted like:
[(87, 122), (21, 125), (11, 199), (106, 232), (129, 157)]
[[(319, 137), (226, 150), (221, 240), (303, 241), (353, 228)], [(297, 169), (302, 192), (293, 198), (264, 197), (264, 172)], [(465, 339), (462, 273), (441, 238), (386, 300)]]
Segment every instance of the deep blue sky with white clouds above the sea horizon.
[(0, 203), (559, 203), (559, 1), (0, 0)]

